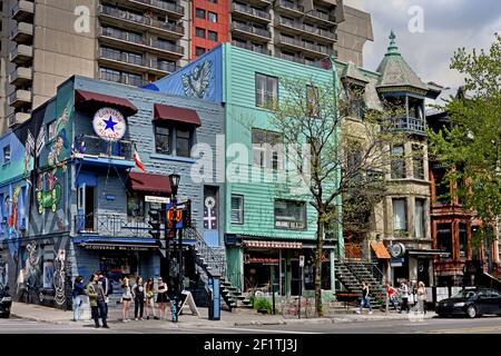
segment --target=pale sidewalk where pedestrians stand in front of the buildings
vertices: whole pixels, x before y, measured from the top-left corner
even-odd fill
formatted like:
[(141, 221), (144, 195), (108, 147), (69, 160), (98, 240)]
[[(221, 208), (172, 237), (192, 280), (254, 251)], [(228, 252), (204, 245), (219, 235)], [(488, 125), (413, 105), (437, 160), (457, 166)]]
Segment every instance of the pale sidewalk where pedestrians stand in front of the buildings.
[[(292, 319), (283, 318), (281, 315), (261, 315), (255, 310), (249, 309), (234, 309), (233, 313), (222, 310), (220, 320), (208, 319), (208, 308), (198, 308), (200, 316), (190, 315), (189, 312), (179, 316), (177, 324), (165, 323), (165, 320), (149, 320), (147, 323), (161, 323), (163, 327), (171, 326), (186, 326), (186, 327), (235, 327), (235, 326), (258, 326), (258, 325), (293, 325), (293, 324), (338, 324), (338, 323), (353, 323), (353, 322), (384, 322), (384, 320), (413, 320), (416, 316), (410, 316), (409, 314), (390, 313), (387, 316), (382, 312), (374, 312), (374, 314), (338, 314), (324, 318), (308, 318), (308, 319)], [(134, 315), (134, 309), (131, 310)], [(59, 325), (78, 325), (71, 320), (72, 312), (55, 309), (45, 306), (38, 306), (32, 304), (13, 303), (11, 309), (12, 317), (19, 317), (23, 319), (30, 319), (36, 322), (43, 322)], [(425, 316), (420, 316), (424, 319), (431, 319), (435, 316), (433, 312), (426, 313)], [(121, 309), (116, 307), (109, 308), (109, 324), (122, 324), (121, 323)], [(170, 320), (170, 319), (169, 319)], [(81, 325), (92, 325), (91, 319), (81, 322)]]

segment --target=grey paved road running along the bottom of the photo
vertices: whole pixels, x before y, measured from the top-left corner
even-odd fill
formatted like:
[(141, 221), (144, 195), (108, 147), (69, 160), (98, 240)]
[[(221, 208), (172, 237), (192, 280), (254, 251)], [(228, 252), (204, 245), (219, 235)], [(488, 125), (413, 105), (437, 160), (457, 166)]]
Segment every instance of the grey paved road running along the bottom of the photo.
[(110, 329), (95, 329), (91, 324), (53, 325), (26, 319), (0, 319), (0, 334), (501, 334), (501, 318), (451, 318), (424, 322), (389, 320), (343, 324), (296, 324), (219, 327), (173, 326), (168, 322), (112, 323)]

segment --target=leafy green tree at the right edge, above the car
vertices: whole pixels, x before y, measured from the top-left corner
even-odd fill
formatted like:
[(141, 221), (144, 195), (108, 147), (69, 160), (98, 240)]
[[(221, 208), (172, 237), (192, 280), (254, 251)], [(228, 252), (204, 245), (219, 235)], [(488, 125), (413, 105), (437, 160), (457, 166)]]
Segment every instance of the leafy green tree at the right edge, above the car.
[(465, 76), (464, 86), (442, 108), (448, 127), (429, 131), (430, 152), (449, 168), (445, 180), (465, 182), (453, 195), (482, 220), (477, 243), (489, 244), (501, 214), (501, 36), (489, 51), (459, 49), (450, 67)]

